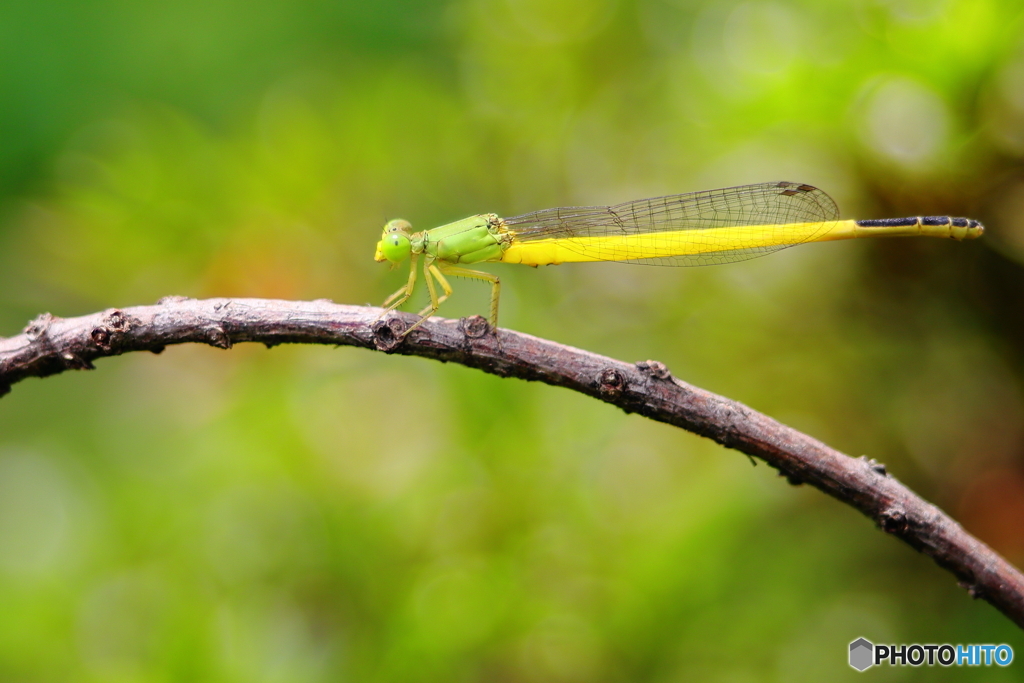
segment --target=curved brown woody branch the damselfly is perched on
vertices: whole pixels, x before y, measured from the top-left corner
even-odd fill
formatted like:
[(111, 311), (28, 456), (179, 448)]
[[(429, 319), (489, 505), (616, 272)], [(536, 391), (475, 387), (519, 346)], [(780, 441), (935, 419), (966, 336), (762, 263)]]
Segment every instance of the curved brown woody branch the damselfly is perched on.
[(0, 340), (0, 394), (27, 377), (91, 369), (102, 356), (159, 353), (186, 342), (221, 348), (239, 342), (343, 344), (541, 381), (761, 458), (791, 482), (809, 483), (860, 510), (952, 572), (972, 597), (990, 602), (1024, 628), (1024, 575), (874, 461), (851, 458), (741, 403), (690, 386), (654, 360), (630, 365), (517, 332), (496, 334), (475, 316), (434, 318), (402, 340), (414, 318), (399, 314), (376, 322), (379, 313), (379, 308), (326, 300), (183, 297), (67, 319), (45, 313), (17, 337)]

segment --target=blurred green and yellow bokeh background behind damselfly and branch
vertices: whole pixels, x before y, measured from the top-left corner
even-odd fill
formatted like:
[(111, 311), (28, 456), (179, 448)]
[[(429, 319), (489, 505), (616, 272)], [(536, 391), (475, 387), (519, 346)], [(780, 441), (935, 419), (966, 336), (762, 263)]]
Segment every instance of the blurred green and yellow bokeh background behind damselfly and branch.
[[(492, 271), (505, 327), (867, 455), (1024, 563), (1017, 0), (0, 5), (0, 325), (379, 303), (385, 219), (762, 180), (976, 243)], [(422, 295), (422, 293), (421, 293)], [(449, 316), (485, 311), (459, 283)], [(1020, 632), (856, 512), (573, 393), (169, 348), (0, 401), (2, 681), (853, 680)], [(878, 680), (1020, 680), (881, 669)]]

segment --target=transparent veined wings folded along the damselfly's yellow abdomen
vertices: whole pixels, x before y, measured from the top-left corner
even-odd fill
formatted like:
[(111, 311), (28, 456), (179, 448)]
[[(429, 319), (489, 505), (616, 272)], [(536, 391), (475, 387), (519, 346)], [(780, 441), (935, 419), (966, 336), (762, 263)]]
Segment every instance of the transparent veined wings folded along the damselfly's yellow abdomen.
[[(837, 220), (839, 209), (830, 197), (796, 182), (707, 189), (610, 207), (559, 207), (503, 219), (524, 243), (559, 240), (566, 249), (594, 260), (652, 265), (741, 261), (808, 242), (830, 230)], [(607, 241), (596, 246), (593, 240), (640, 236), (613, 247)], [(734, 248), (737, 245), (755, 246)], [(645, 256), (651, 246), (663, 256)], [(666, 247), (678, 255), (664, 256)]]

